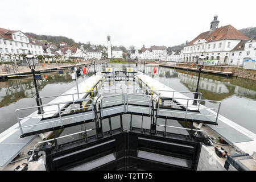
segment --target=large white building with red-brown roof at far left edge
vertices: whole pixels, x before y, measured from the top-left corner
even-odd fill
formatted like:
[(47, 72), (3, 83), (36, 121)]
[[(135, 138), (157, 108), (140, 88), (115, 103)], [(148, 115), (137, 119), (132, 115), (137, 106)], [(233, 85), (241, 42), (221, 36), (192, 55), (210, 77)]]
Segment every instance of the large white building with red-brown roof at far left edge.
[[(10, 56), (6, 54), (27, 54), (28, 51), (33, 55), (43, 55), (43, 47), (37, 40), (24, 34), (22, 31), (0, 28), (0, 60), (10, 61)], [(13, 60), (14, 56), (11, 58)], [(16, 59), (18, 59), (18, 56), (16, 56)]]

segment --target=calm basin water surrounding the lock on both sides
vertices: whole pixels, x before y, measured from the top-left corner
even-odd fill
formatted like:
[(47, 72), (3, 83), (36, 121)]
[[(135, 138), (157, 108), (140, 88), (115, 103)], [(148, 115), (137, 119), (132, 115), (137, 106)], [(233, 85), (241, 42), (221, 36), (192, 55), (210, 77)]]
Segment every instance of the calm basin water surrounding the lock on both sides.
[[(108, 67), (135, 67), (135, 64), (108, 64)], [(146, 66), (145, 73), (159, 80), (163, 84), (179, 91), (195, 92), (197, 84), (197, 72), (183, 71), (180, 69), (156, 67), (157, 73), (152, 74), (153, 67)], [(97, 65), (96, 71), (104, 69), (104, 65)], [(143, 71), (144, 66), (139, 65)], [(92, 76), (93, 67), (88, 67), (86, 75), (78, 78), (81, 82)], [(42, 79), (37, 80), (40, 96), (53, 96), (66, 92), (75, 86), (71, 78), (72, 71), (44, 73)], [(80, 90), (80, 92), (82, 92)], [(221, 101), (220, 114), (233, 122), (256, 133), (256, 81), (236, 77), (223, 77), (216, 75), (201, 74), (199, 92), (202, 98), (207, 100)], [(191, 96), (190, 96), (191, 97)], [(44, 100), (43, 104), (51, 101)], [(32, 77), (0, 81), (0, 133), (13, 126), (17, 121), (15, 109), (35, 106), (35, 89)], [(207, 106), (214, 107), (214, 104)], [(30, 113), (24, 113), (25, 115)], [(84, 130), (77, 126), (65, 129), (63, 134)], [(71, 132), (72, 131), (72, 132)]]

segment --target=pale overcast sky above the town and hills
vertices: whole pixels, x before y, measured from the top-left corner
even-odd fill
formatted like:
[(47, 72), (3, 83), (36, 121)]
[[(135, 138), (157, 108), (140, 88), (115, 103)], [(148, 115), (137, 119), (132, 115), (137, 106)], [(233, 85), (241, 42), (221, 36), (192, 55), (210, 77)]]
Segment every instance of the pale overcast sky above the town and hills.
[(256, 1), (0, 1), (0, 27), (76, 42), (113, 46), (175, 46), (208, 31), (215, 14), (220, 26), (255, 27)]

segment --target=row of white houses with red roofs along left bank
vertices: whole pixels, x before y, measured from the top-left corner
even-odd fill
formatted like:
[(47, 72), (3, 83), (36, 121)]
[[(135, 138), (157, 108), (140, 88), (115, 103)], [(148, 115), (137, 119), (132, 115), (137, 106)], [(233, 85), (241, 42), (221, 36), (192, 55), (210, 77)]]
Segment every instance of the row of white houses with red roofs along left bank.
[(60, 55), (64, 59), (80, 57), (81, 59), (88, 60), (106, 57), (95, 47), (87, 50), (83, 46), (79, 48), (67, 47), (67, 43), (61, 42), (60, 48), (57, 48), (55, 44), (48, 43), (45, 45), (44, 42), (39, 42), (22, 31), (0, 28), (0, 61), (11, 61), (14, 57), (20, 59), (20, 54), (27, 54), (28, 52), (31, 52), (32, 55)]

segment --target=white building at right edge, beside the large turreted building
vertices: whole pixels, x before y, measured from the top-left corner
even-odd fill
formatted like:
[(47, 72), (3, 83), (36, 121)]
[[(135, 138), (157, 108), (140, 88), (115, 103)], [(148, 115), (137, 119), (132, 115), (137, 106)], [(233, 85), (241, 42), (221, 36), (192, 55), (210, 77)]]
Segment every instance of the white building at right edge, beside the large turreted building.
[(256, 40), (241, 40), (230, 51), (229, 64), (230, 65), (243, 65), (244, 61), (253, 59), (256, 60)]

